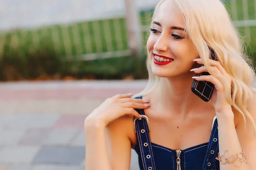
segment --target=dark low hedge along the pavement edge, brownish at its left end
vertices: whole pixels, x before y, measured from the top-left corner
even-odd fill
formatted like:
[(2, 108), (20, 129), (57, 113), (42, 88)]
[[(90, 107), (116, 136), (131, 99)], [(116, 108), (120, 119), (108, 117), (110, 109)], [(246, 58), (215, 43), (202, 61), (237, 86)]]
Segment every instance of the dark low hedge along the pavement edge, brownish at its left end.
[(29, 45), (29, 39), (17, 46), (12, 45), (12, 34), (6, 36), (0, 56), (0, 81), (62, 79), (123, 79), (132, 76), (147, 78), (145, 56), (115, 57), (81, 61), (64, 59), (54, 46), (44, 38), (39, 45)]

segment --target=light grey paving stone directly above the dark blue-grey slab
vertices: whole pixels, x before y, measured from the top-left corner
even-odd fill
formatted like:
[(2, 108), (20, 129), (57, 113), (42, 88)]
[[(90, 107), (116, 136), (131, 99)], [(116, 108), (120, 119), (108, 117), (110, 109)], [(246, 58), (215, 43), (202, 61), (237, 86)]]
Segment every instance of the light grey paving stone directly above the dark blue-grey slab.
[(47, 145), (67, 145), (71, 139), (77, 135), (77, 130), (73, 129), (55, 129), (49, 133), (43, 144)]

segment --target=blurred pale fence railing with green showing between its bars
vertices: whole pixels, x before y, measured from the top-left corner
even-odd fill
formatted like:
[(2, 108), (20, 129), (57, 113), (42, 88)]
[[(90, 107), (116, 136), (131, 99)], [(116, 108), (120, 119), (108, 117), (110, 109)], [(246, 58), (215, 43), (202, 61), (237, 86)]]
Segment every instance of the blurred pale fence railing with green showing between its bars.
[[(256, 44), (256, 0), (226, 0), (231, 17), (247, 40)], [(143, 43), (146, 40), (152, 9), (140, 12)], [(129, 56), (125, 17), (112, 17), (35, 29), (15, 29), (0, 33), (2, 47), (11, 46), (21, 54), (26, 46), (48, 45), (67, 59), (96, 59)]]

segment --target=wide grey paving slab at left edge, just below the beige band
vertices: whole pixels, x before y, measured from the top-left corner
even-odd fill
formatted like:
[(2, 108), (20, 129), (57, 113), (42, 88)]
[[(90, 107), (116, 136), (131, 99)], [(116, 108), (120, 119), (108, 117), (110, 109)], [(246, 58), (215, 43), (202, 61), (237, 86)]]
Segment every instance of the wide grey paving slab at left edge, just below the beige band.
[(3, 129), (49, 128), (59, 119), (58, 114), (4, 114), (0, 115)]

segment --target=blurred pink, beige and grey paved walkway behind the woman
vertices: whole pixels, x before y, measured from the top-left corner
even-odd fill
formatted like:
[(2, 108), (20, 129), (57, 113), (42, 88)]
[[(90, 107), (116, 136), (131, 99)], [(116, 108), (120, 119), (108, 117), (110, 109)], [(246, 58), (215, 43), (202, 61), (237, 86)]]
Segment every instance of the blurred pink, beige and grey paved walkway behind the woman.
[[(85, 117), (145, 81), (0, 84), (0, 170), (84, 170)], [(132, 151), (131, 170), (138, 170)]]

